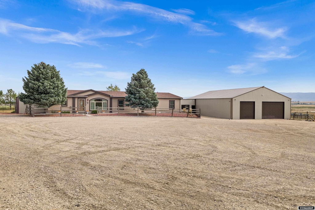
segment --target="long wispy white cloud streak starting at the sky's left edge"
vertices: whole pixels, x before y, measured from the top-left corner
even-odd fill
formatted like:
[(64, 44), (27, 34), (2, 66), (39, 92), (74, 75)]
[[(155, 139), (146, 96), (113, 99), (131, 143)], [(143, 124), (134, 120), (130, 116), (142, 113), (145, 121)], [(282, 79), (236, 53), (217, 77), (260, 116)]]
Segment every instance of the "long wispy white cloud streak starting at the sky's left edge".
[(13, 31), (15, 37), (24, 37), (35, 43), (63, 43), (79, 46), (80, 44), (97, 45), (95, 39), (98, 38), (129, 36), (139, 33), (143, 30), (138, 30), (136, 27), (133, 27), (132, 29), (124, 31), (81, 30), (75, 34), (71, 34), (55, 29), (30, 27), (19, 23), (14, 23), (10, 20), (0, 19), (0, 33), (9, 36), (10, 32)]

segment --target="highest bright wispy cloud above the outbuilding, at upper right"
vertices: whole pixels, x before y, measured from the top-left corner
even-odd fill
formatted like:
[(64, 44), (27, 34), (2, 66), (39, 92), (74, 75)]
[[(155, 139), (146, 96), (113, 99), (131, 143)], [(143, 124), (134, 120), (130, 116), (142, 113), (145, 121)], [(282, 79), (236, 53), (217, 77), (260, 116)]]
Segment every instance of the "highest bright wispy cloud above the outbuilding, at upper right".
[(234, 21), (235, 26), (246, 31), (248, 33), (256, 33), (267, 38), (285, 38), (284, 33), (287, 31), (286, 27), (280, 27), (275, 29), (270, 29), (271, 25), (267, 22), (257, 22), (255, 18), (247, 21)]

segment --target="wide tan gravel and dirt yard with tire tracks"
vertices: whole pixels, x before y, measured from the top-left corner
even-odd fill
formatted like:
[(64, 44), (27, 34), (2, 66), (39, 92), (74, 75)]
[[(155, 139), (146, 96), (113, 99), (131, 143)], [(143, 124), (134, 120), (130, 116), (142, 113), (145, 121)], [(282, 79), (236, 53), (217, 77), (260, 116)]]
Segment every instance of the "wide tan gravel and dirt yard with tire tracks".
[(315, 122), (0, 115), (0, 209), (315, 205)]

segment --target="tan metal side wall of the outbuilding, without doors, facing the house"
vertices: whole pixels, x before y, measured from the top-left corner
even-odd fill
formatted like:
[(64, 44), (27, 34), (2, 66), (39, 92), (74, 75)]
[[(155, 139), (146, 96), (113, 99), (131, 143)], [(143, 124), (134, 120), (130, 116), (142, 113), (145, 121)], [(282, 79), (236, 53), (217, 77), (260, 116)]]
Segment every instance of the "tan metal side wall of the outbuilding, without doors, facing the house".
[(230, 99), (196, 99), (196, 109), (201, 109), (202, 116), (230, 119)]

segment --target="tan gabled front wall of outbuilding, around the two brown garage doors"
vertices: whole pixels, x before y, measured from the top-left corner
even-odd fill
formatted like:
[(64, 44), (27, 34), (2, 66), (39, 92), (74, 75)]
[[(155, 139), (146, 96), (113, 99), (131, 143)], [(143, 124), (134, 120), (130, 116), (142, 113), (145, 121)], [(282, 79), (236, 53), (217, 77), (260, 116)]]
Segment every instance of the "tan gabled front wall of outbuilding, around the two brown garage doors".
[(284, 119), (290, 119), (291, 99), (267, 88), (259, 88), (252, 92), (233, 98), (233, 119), (239, 119), (240, 101), (255, 101), (255, 119), (262, 117), (262, 102), (284, 102)]

